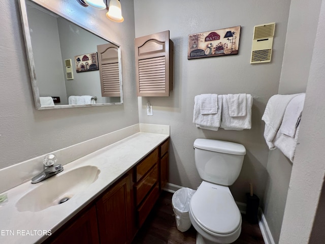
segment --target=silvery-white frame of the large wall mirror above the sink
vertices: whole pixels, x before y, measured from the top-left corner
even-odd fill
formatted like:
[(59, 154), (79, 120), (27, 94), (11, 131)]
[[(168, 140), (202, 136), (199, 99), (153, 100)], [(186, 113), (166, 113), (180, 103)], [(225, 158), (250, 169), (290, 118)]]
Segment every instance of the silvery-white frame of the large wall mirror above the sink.
[[(79, 27), (85, 29), (86, 31), (92, 33), (95, 36), (98, 36), (118, 47), (118, 62), (119, 62), (119, 71), (120, 71), (120, 102), (119, 103), (98, 103), (98, 104), (74, 104), (74, 105), (54, 105), (54, 106), (41, 106), (40, 102), (40, 92), (39, 92), (39, 87), (37, 84), (37, 79), (36, 79), (36, 72), (35, 72), (35, 62), (34, 62), (34, 55), (32, 52), (32, 47), (31, 47), (31, 38), (30, 38), (30, 33), (29, 33), (29, 24), (28, 24), (28, 18), (27, 18), (27, 8), (26, 8), (26, 1), (30, 1), (41, 8), (45, 8), (58, 16), (78, 25)], [(28, 68), (29, 68), (29, 76), (30, 76), (30, 81), (31, 81), (31, 87), (32, 87), (32, 92), (34, 95), (34, 102), (35, 102), (35, 107), (37, 110), (44, 110), (44, 109), (59, 109), (59, 108), (78, 108), (78, 107), (97, 107), (97, 106), (109, 106), (109, 105), (122, 105), (123, 104), (123, 83), (122, 83), (122, 58), (121, 58), (121, 47), (120, 45), (116, 44), (115, 42), (112, 42), (108, 40), (106, 37), (102, 36), (99, 33), (96, 33), (89, 29), (88, 27), (84, 26), (83, 24), (78, 23), (77, 21), (71, 19), (70, 17), (58, 12), (57, 10), (54, 10), (50, 6), (42, 3), (36, 3), (34, 0), (19, 0), (20, 4), (20, 16), (21, 16), (21, 23), (22, 23), (22, 29), (23, 29), (23, 36), (24, 36), (24, 41), (25, 41), (25, 48), (26, 48), (26, 54), (27, 54), (27, 60), (28, 60)], [(99, 80), (99, 82), (101, 82)]]

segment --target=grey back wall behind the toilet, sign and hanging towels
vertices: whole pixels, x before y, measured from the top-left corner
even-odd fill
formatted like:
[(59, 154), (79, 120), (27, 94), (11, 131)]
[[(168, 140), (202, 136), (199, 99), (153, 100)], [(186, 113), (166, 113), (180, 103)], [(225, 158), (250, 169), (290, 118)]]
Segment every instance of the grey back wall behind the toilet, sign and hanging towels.
[[(249, 14), (248, 14), (249, 13)], [(201, 179), (194, 166), (193, 142), (212, 138), (242, 143), (247, 149), (238, 180), (231, 187), (235, 200), (246, 202), (249, 182), (261, 198), (268, 180), (269, 150), (261, 120), (268, 99), (278, 92), (289, 1), (135, 1), (136, 37), (170, 30), (175, 46), (174, 91), (168, 98), (139, 98), (141, 123), (171, 126), (172, 184), (196, 189)], [(148, 21), (150, 20), (150, 21)], [(272, 62), (250, 65), (254, 25), (276, 22)], [(241, 25), (239, 54), (187, 60), (188, 35)], [(253, 101), (252, 129), (217, 132), (192, 124), (194, 96), (204, 93), (248, 93)], [(146, 103), (153, 116), (146, 115)]]

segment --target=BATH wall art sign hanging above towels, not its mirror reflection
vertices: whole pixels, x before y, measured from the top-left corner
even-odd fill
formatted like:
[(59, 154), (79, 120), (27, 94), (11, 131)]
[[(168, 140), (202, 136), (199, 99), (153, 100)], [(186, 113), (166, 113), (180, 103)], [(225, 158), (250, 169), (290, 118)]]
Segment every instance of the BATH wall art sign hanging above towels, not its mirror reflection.
[(188, 35), (187, 59), (238, 54), (240, 27)]

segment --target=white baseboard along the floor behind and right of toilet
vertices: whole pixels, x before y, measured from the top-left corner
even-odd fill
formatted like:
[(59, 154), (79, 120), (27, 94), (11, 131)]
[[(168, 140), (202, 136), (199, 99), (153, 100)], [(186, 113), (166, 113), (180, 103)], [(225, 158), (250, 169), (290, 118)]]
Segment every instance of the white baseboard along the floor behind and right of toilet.
[[(169, 182), (166, 183), (164, 191), (175, 193), (177, 190), (184, 188), (178, 185), (171, 184)], [(246, 203), (243, 202), (236, 202), (240, 212), (242, 214), (246, 214)], [(265, 219), (265, 216), (263, 214), (263, 211), (261, 208), (258, 209), (258, 226), (259, 229), (261, 229), (261, 233), (264, 239), (265, 244), (275, 244), (274, 239), (272, 237), (270, 228), (268, 226), (268, 223)]]

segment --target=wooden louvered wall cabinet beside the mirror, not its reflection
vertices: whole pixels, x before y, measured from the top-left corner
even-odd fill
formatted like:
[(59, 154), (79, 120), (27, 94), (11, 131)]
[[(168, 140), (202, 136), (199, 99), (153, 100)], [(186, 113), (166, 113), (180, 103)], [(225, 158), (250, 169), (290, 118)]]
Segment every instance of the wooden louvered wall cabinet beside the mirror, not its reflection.
[(135, 52), (138, 97), (169, 97), (174, 76), (169, 31), (136, 38)]

